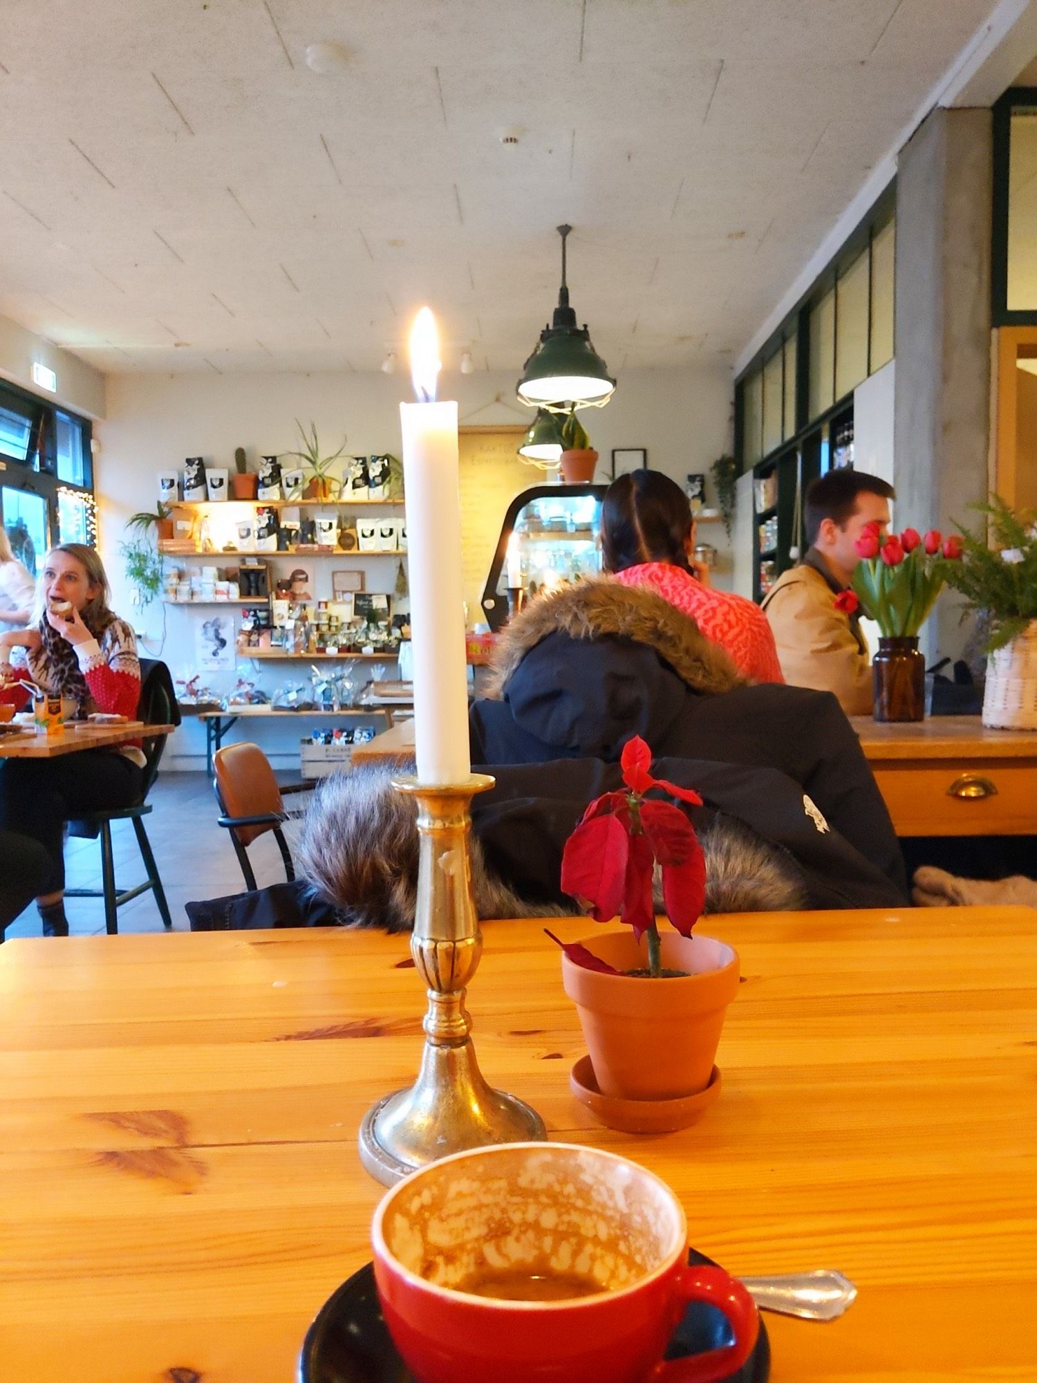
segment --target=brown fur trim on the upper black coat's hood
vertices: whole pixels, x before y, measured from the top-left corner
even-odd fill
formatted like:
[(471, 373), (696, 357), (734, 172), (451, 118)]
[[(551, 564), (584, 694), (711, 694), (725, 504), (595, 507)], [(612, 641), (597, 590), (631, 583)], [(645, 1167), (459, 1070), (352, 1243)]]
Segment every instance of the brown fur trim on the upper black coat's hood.
[(538, 596), (505, 628), (492, 656), (485, 696), (501, 700), (520, 662), (552, 633), (570, 639), (629, 639), (651, 649), (693, 692), (713, 694), (745, 678), (695, 621), (646, 586), (593, 577)]

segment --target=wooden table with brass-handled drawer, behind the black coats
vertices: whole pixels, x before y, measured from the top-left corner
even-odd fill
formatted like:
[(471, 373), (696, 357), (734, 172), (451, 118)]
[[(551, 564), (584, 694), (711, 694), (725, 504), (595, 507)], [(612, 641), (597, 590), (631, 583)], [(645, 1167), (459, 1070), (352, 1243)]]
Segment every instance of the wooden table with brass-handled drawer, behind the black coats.
[[(857, 715), (850, 723), (897, 835), (1037, 834), (1037, 730), (987, 730), (978, 715), (913, 725), (879, 725)], [(408, 758), (413, 758), (413, 722), (353, 751), (354, 763)]]

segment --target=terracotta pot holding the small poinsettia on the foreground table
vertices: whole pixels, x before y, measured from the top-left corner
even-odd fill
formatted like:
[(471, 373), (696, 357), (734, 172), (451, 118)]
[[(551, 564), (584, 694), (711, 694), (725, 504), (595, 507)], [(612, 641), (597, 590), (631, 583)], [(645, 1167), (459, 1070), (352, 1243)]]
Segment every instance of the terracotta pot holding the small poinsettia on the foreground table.
[[(682, 978), (603, 975), (561, 958), (597, 1087), (622, 1099), (678, 1099), (709, 1084), (727, 1005), (738, 992), (738, 956), (712, 936), (661, 932), (662, 965)], [(633, 932), (603, 932), (582, 945), (617, 969), (647, 965)]]

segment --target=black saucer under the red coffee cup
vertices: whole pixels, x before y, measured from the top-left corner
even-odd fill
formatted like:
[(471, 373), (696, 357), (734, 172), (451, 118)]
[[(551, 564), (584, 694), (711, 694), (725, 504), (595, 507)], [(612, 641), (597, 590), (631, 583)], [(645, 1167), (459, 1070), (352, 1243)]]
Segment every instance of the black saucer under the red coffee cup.
[[(712, 1259), (694, 1249), (689, 1249), (687, 1260), (713, 1265)], [(673, 1332), (666, 1358), (719, 1350), (730, 1340), (720, 1311), (693, 1303)], [(756, 1348), (725, 1383), (766, 1383), (769, 1376), (770, 1342), (760, 1319)], [(372, 1264), (347, 1278), (321, 1307), (303, 1342), (297, 1383), (413, 1383), (382, 1319)]]

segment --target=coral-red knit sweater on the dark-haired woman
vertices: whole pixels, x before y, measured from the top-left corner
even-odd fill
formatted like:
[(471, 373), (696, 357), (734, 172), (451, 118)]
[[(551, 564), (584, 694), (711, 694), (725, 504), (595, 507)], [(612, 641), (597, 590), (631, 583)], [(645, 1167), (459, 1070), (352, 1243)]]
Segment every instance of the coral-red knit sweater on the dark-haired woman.
[(729, 591), (713, 591), (669, 561), (644, 561), (617, 571), (625, 586), (650, 586), (678, 610), (690, 614), (701, 632), (730, 654), (742, 676), (754, 682), (784, 682), (774, 635), (758, 604)]

